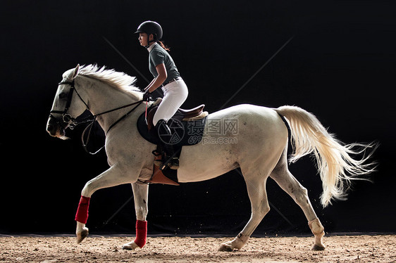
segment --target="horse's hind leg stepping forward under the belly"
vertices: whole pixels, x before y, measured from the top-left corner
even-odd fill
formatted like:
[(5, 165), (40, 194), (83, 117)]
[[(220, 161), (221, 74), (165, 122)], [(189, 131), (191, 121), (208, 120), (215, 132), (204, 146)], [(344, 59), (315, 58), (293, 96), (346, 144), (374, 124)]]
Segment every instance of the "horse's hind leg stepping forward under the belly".
[(243, 172), (243, 174), (247, 184), (247, 193), (249, 194), (252, 205), (252, 214), (249, 222), (247, 222), (245, 228), (242, 229), (238, 236), (229, 242), (221, 244), (218, 251), (240, 250), (270, 210), (266, 194), (266, 179), (269, 172), (264, 174), (257, 173), (253, 177), (246, 177), (247, 172)]

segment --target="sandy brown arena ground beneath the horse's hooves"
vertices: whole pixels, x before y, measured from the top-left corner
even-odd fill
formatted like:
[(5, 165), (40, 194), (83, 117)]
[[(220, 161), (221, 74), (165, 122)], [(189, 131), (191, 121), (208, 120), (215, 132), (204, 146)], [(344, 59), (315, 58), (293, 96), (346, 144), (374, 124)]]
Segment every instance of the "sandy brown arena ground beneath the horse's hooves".
[(147, 238), (141, 250), (122, 250), (133, 237), (0, 237), (0, 262), (396, 262), (396, 236), (327, 236), (326, 250), (311, 251), (313, 237), (250, 238), (240, 251), (218, 252), (230, 238)]

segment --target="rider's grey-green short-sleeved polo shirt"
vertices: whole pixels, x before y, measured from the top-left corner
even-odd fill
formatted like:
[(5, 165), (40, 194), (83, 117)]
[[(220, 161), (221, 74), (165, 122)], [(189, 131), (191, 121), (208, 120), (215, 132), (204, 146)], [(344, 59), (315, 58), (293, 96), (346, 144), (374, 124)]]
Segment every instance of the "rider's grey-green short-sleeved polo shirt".
[(158, 76), (158, 72), (156, 72), (156, 66), (161, 63), (165, 65), (166, 73), (168, 74), (168, 77), (163, 83), (168, 83), (171, 81), (171, 79), (180, 77), (178, 68), (176, 68), (171, 55), (169, 55), (169, 53), (159, 44), (154, 44), (151, 51), (149, 51), (149, 70), (154, 77)]

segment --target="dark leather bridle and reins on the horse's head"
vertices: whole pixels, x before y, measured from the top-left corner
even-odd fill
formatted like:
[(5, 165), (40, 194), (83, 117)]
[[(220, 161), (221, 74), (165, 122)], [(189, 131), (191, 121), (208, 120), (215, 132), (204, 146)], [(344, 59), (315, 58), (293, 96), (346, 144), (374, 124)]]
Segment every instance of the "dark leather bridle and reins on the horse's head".
[[(129, 115), (130, 113), (132, 113), (132, 111), (134, 111), (137, 107), (139, 107), (139, 105), (143, 102), (143, 100), (142, 100), (142, 101), (136, 101), (136, 102), (134, 102), (134, 103), (130, 103), (130, 104), (127, 104), (127, 105), (123, 105), (123, 106), (121, 106), (121, 107), (118, 107), (118, 108), (114, 108), (114, 109), (112, 109), (112, 110), (106, 110), (106, 111), (104, 111), (103, 113), (99, 113), (99, 114), (96, 114), (96, 115), (92, 115), (92, 116), (88, 116), (88, 117), (82, 118), (82, 120), (77, 120), (77, 119), (73, 118), (73, 117), (68, 113), (68, 110), (69, 110), (69, 108), (70, 108), (70, 105), (71, 105), (71, 102), (72, 102), (72, 99), (73, 99), (73, 92), (75, 92), (75, 94), (78, 95), (78, 98), (80, 98), (80, 100), (82, 101), (82, 103), (84, 103), (84, 105), (87, 107), (87, 110), (89, 110), (88, 104), (82, 99), (82, 97), (81, 97), (80, 94), (78, 93), (77, 89), (75, 89), (74, 79), (73, 79), (73, 81), (71, 81), (71, 82), (70, 82), (70, 81), (64, 81), (64, 82), (59, 82), (59, 83), (58, 83), (58, 85), (63, 85), (63, 84), (70, 85), (70, 91), (69, 91), (69, 94), (68, 94), (68, 100), (66, 101), (65, 108), (64, 108), (64, 110), (51, 110), (51, 111), (49, 112), (49, 117), (50, 117), (50, 118), (54, 118), (54, 119), (56, 120), (56, 123), (61, 124), (61, 123), (60, 123), (60, 120), (56, 119), (56, 117), (55, 117), (54, 115), (52, 115), (53, 113), (61, 114), (61, 115), (62, 115), (62, 120), (61, 120), (61, 121), (63, 122), (63, 125), (65, 125), (65, 127), (66, 127), (66, 125), (68, 125), (68, 128), (70, 128), (70, 129), (74, 129), (78, 124), (90, 122), (90, 123), (88, 124), (88, 126), (85, 128), (85, 130), (82, 132), (82, 136), (81, 136), (82, 146), (83, 146), (84, 149), (87, 151), (87, 153), (90, 153), (90, 152), (87, 150), (87, 144), (88, 144), (88, 142), (89, 142), (89, 137), (90, 137), (90, 135), (91, 135), (91, 130), (92, 130), (93, 124), (94, 124), (94, 122), (97, 120), (97, 117), (98, 117), (98, 116), (104, 115), (104, 114), (106, 114), (106, 113), (111, 113), (111, 112), (116, 111), (116, 110), (121, 110), (121, 109), (123, 109), (123, 108), (128, 108), (128, 107), (130, 107), (130, 106), (132, 106), (132, 105), (135, 105), (135, 107), (133, 107), (132, 110), (128, 111), (128, 113), (126, 113), (125, 115), (121, 116), (120, 118), (118, 118), (118, 120), (116, 120), (116, 122), (114, 122), (113, 124), (110, 125), (109, 129), (107, 129), (107, 131), (106, 131), (106, 134), (108, 134), (109, 131), (110, 131), (114, 126), (116, 126), (116, 124), (118, 124), (118, 122), (120, 122), (121, 120), (124, 120), (126, 117), (128, 117), (128, 115)], [(85, 141), (84, 141), (84, 135), (85, 135), (85, 132), (87, 131), (87, 129), (89, 129), (89, 132), (88, 132), (87, 141), (85, 142)], [(101, 147), (99, 150), (97, 150), (95, 153), (90, 153), (90, 154), (99, 153), (99, 151), (100, 151), (102, 148), (104, 148), (104, 146)]]

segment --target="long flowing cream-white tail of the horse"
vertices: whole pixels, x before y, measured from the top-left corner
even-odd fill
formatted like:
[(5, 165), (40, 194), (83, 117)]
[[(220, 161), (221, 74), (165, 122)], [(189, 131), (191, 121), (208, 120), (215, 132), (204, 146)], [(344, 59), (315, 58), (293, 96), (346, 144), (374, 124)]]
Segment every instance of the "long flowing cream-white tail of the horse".
[[(331, 200), (345, 200), (345, 191), (352, 179), (374, 171), (375, 163), (367, 162), (378, 146), (376, 143), (344, 144), (329, 134), (321, 122), (311, 113), (295, 106), (282, 106), (274, 109), (287, 118), (290, 123), (293, 153), (290, 162), (296, 162), (302, 156), (314, 153), (321, 175), (323, 207), (331, 204)], [(359, 148), (359, 150), (354, 150)], [(373, 148), (366, 154), (367, 148)], [(351, 155), (363, 155), (355, 160)]]

